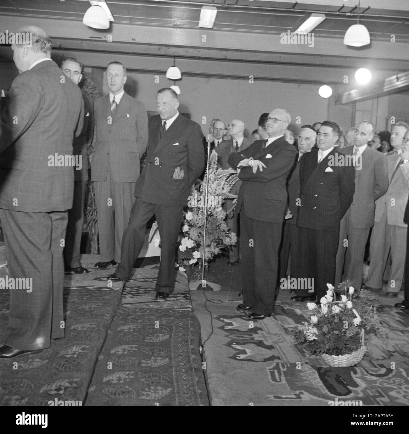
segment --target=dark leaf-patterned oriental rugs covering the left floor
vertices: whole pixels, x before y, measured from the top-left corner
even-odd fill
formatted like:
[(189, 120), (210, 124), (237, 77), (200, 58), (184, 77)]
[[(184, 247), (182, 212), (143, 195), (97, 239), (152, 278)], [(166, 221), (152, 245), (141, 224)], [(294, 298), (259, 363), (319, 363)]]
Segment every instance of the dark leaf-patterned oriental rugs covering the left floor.
[[(0, 405), (209, 405), (187, 277), (178, 273), (175, 293), (158, 302), (157, 270), (138, 269), (122, 296), (107, 287), (114, 268), (96, 269), (84, 256), (89, 273), (64, 282), (65, 338), (39, 354), (0, 359)], [(0, 289), (0, 344), (8, 306)]]

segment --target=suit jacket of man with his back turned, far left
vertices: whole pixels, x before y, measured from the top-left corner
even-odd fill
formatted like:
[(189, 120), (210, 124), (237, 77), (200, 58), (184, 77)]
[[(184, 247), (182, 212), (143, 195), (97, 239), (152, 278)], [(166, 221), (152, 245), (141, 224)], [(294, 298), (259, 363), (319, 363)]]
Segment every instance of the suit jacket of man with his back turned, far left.
[(79, 87), (61, 82), (61, 75), (45, 60), (13, 80), (2, 113), (0, 208), (53, 212), (73, 206), (73, 167), (51, 165), (49, 157), (73, 155), (84, 102)]

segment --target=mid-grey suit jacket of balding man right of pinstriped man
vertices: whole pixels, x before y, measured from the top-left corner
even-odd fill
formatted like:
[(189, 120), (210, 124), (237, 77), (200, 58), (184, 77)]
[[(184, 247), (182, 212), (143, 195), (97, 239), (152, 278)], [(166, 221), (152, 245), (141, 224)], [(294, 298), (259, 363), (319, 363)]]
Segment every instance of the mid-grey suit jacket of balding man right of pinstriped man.
[[(345, 155), (353, 155), (353, 146), (340, 149)], [(355, 168), (355, 193), (350, 207), (354, 227), (366, 229), (373, 226), (375, 201), (388, 190), (389, 179), (386, 157), (375, 149), (366, 147), (361, 158), (362, 168)]]

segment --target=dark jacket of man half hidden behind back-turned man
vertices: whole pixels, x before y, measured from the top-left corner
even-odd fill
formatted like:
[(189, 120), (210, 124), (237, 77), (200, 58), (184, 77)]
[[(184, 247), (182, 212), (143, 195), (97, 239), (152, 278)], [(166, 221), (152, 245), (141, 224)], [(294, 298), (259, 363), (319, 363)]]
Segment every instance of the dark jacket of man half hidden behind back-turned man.
[(84, 123), (81, 134), (74, 139), (73, 143), (74, 155), (81, 156), (82, 167), (81, 170), (74, 169), (75, 181), (88, 180), (88, 148), (94, 135), (94, 103), (84, 92), (82, 92), (82, 99), (84, 100)]

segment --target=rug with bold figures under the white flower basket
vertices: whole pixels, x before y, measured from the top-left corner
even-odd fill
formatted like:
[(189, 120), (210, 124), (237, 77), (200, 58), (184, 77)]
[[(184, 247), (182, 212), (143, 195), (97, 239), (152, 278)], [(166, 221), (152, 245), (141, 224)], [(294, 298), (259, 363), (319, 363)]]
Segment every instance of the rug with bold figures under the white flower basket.
[[(199, 303), (195, 298), (194, 306)], [(404, 311), (385, 307), (379, 316), (386, 339), (369, 338), (363, 361), (351, 368), (332, 368), (294, 344), (297, 325), (310, 313), (301, 303), (280, 302), (273, 316), (253, 328), (232, 303), (212, 305), (211, 311), (214, 334), (204, 356), (212, 405), (409, 405)]]

